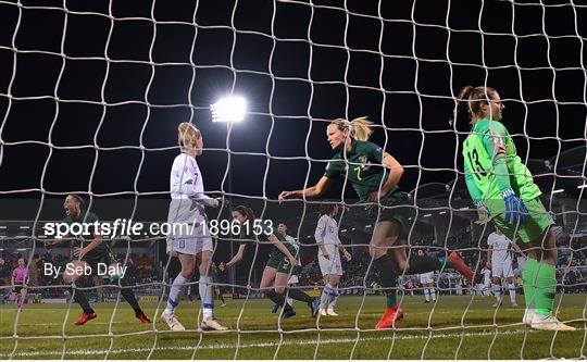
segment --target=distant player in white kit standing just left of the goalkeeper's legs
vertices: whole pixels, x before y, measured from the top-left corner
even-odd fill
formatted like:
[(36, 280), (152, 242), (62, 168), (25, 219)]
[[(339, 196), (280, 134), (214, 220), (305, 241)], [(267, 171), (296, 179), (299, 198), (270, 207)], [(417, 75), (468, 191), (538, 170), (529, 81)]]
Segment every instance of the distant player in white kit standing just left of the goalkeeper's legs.
[(515, 283), (512, 267), (511, 247), (517, 252), (522, 253), (520, 247), (512, 242), (505, 235), (496, 227), (496, 232), (489, 234), (487, 237), (487, 267), (491, 269), (494, 294), (496, 296), (495, 308), (501, 305), (501, 284), (503, 279), (508, 284), (508, 290), (510, 291), (510, 300), (512, 307), (517, 307), (515, 301)]

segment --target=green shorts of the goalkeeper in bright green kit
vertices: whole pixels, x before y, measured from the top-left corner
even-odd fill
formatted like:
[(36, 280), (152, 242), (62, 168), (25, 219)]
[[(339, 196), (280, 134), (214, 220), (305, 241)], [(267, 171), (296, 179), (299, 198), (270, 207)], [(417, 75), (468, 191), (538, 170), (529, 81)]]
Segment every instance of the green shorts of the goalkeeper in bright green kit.
[(509, 237), (512, 241), (532, 242), (542, 238), (548, 228), (554, 224), (548, 211), (546, 211), (540, 198), (524, 201), (528, 210), (528, 219), (520, 226), (507, 223), (505, 203), (502, 199), (488, 200), (486, 202), (489, 215), (492, 217), (496, 226)]

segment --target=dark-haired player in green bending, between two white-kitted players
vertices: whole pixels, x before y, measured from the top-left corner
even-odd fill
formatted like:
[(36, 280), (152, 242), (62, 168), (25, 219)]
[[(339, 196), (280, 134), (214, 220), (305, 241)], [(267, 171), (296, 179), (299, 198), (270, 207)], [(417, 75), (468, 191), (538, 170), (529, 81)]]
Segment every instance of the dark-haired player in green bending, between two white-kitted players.
[[(284, 316), (290, 317), (296, 315), (290, 304), (286, 303), (285, 292), (289, 297), (303, 301), (310, 308), (312, 316), (316, 316), (319, 312), (319, 301), (315, 298), (310, 297), (300, 289), (288, 289), (287, 282), (289, 280), (289, 274), (292, 266), (298, 264), (296, 259), (296, 248), (284, 238), (279, 239), (272, 230), (260, 230), (253, 227), (254, 213), (250, 208), (238, 205), (233, 210), (233, 219), (238, 221), (241, 225), (241, 233), (239, 238), (242, 240), (238, 247), (237, 253), (226, 263), (221, 263), (218, 269), (225, 271), (238, 264), (243, 258), (247, 249), (254, 246), (255, 241), (270, 241), (273, 242), (274, 248), (270, 252), (270, 258), (265, 269), (263, 270), (263, 276), (261, 277), (260, 289), (270, 298), (275, 304), (283, 305)], [(245, 223), (249, 222), (250, 227), (246, 227)], [(266, 227), (266, 225), (264, 225)], [(248, 232), (248, 233), (247, 233)]]

